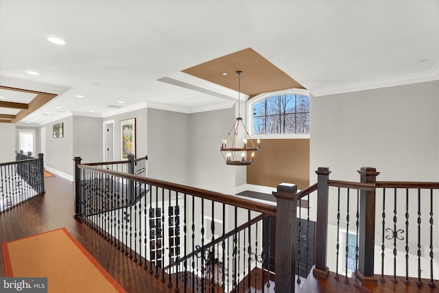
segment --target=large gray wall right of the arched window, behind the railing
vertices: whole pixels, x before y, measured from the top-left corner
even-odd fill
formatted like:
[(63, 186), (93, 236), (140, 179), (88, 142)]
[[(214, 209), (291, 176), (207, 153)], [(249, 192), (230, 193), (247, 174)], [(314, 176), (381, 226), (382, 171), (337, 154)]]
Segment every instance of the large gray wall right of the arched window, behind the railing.
[[(333, 180), (359, 181), (357, 169), (376, 167), (381, 172), (377, 180), (438, 182), (439, 81), (313, 97), (310, 164), (311, 184), (317, 180), (318, 167), (329, 167)], [(329, 209), (337, 210), (336, 200), (330, 201)], [(390, 221), (392, 207), (386, 209)], [(398, 209), (399, 224), (405, 226), (404, 200), (399, 200)], [(437, 200), (434, 209), (439, 209)], [(413, 198), (410, 213), (417, 214)], [(423, 222), (428, 217), (429, 205), (423, 208)], [(381, 222), (379, 212), (377, 221)], [(438, 221), (436, 213), (434, 222)], [(335, 214), (329, 222), (336, 223)], [(416, 225), (416, 220), (410, 223)], [(416, 233), (409, 235), (409, 241), (416, 242)], [(428, 236), (425, 231), (421, 241), (427, 244)], [(434, 246), (438, 245), (435, 235)]]

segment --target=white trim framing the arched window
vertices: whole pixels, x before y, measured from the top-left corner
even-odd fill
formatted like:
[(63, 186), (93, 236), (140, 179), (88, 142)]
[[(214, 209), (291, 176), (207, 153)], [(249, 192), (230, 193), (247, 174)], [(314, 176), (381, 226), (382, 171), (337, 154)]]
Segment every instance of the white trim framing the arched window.
[[(250, 137), (252, 139), (309, 139), (309, 133), (307, 134), (254, 134), (253, 133), (253, 105), (261, 102), (263, 99), (268, 99), (269, 97), (274, 97), (276, 95), (306, 95), (310, 97), (310, 93), (306, 89), (285, 89), (281, 91), (272, 91), (269, 93), (261, 93), (259, 95), (255, 95), (252, 99), (247, 101), (247, 129), (250, 133)], [(311, 111), (310, 111), (311, 113)]]

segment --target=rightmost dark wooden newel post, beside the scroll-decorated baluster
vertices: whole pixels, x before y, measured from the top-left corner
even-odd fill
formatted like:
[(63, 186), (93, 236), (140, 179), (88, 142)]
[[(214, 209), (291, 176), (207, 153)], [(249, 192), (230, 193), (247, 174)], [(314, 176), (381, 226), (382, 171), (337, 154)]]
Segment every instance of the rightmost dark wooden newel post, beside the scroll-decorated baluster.
[[(361, 167), (358, 171), (361, 183), (377, 183), (379, 172), (372, 167)], [(363, 283), (376, 283), (374, 277), (375, 248), (375, 190), (359, 192), (359, 242), (358, 277)]]

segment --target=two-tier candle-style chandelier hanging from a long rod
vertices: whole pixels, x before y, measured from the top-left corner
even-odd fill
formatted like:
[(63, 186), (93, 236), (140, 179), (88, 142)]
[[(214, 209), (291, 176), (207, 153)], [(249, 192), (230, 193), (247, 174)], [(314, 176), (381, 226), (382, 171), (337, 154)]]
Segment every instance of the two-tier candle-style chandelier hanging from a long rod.
[[(259, 151), (260, 141), (257, 140), (257, 146), (254, 145), (247, 128), (241, 117), (241, 74), (242, 71), (236, 71), (238, 75), (238, 117), (221, 143), (221, 154), (227, 165), (252, 165), (254, 162), (254, 152)], [(239, 131), (245, 134), (239, 135)], [(233, 133), (233, 139), (230, 143), (230, 134)], [(242, 139), (242, 143), (241, 143)], [(238, 142), (239, 141), (239, 142)], [(229, 143), (229, 145), (227, 144)]]

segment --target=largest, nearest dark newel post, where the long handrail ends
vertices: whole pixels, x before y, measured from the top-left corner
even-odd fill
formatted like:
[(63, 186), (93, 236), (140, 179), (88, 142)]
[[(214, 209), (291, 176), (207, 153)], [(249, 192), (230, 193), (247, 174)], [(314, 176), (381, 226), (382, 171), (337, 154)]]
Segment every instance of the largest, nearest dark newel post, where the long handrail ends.
[(296, 274), (297, 186), (281, 183), (276, 197), (276, 292), (294, 292)]

